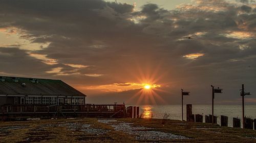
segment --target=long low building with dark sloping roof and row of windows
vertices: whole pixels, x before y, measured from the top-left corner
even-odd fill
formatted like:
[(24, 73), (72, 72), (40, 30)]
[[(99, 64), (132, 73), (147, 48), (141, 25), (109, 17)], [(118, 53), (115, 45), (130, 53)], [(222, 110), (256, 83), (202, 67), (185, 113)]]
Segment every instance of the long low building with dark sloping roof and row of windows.
[(86, 95), (61, 80), (0, 76), (0, 106), (84, 105)]

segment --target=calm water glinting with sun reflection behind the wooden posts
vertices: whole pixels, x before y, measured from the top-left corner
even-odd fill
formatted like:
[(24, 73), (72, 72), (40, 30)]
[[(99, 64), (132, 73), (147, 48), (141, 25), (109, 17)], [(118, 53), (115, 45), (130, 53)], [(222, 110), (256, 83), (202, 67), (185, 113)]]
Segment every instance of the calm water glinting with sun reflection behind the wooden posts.
[[(205, 115), (211, 114), (211, 105), (193, 105), (192, 110), (193, 114), (202, 114), (205, 122)], [(141, 113), (145, 118), (163, 118), (163, 114), (168, 113), (171, 119), (181, 120), (181, 105), (140, 105)], [(233, 117), (242, 118), (242, 105), (215, 105), (214, 114), (218, 116), (218, 124), (220, 115), (228, 116), (228, 126), (232, 127)], [(256, 105), (245, 105), (245, 116), (256, 118)], [(183, 106), (183, 120), (186, 120), (186, 105)]]

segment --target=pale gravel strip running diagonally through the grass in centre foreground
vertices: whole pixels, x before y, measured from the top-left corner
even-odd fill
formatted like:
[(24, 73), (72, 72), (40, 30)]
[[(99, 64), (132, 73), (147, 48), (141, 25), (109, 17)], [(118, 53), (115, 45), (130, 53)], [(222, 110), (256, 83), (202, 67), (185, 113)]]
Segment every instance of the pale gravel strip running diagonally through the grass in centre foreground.
[[(116, 123), (117, 120), (98, 120), (100, 123), (110, 124), (112, 127), (115, 128), (116, 131), (123, 131), (127, 134), (135, 135), (136, 139), (154, 139), (154, 140), (161, 140), (161, 139), (188, 139), (185, 136), (175, 135), (171, 133), (165, 133), (160, 131), (152, 131), (152, 128), (146, 128), (142, 126), (133, 126), (133, 123), (125, 123), (119, 122)], [(115, 123), (112, 123), (115, 122)]]

